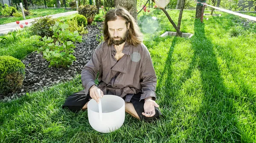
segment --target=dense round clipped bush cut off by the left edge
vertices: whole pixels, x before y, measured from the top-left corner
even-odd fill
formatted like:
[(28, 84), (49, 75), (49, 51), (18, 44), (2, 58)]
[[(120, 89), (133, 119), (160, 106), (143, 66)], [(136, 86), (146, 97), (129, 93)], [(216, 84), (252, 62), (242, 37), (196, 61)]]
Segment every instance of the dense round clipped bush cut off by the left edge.
[(0, 56), (0, 93), (15, 92), (25, 76), (25, 65), (12, 56)]

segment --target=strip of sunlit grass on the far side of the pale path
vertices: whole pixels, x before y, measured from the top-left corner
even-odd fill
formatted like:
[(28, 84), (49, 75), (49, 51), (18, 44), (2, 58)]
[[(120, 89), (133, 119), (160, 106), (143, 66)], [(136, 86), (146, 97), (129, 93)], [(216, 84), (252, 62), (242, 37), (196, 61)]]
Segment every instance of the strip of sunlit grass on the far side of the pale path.
[[(72, 11), (72, 10), (66, 10), (64, 8), (59, 8), (59, 9), (48, 8), (48, 9), (34, 9), (34, 10), (30, 10), (30, 11), (32, 11), (33, 15), (26, 16), (26, 19), (46, 16), (46, 15), (52, 15), (52, 14), (58, 14), (58, 13), (62, 13), (62, 12)], [(17, 20), (24, 20), (24, 19), (23, 19), (23, 17), (1, 17), (0, 24), (15, 22)]]

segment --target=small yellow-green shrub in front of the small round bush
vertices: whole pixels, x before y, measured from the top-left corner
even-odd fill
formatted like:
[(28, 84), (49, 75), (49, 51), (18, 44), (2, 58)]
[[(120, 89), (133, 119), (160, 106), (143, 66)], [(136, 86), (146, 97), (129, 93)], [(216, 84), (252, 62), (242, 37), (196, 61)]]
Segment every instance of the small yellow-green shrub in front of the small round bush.
[(79, 34), (87, 34), (88, 31), (85, 30), (84, 25), (78, 25), (78, 22), (76, 19), (73, 20), (67, 20), (68, 30), (70, 32), (78, 31)]

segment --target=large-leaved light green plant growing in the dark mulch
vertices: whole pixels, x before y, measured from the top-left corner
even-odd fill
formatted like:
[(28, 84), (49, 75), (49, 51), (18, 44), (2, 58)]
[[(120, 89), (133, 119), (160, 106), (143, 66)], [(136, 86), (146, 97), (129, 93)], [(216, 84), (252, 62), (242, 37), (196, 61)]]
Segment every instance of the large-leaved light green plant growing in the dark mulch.
[[(53, 36), (47, 37), (34, 35), (31, 36), (38, 46), (38, 52), (43, 52), (44, 59), (50, 62), (51, 66), (70, 67), (76, 57), (73, 56), (74, 48), (73, 42), (81, 42), (82, 36), (79, 36), (78, 31), (70, 32), (67, 28), (68, 25), (56, 22), (55, 25), (50, 27), (53, 31)], [(42, 41), (40, 41), (42, 40)]]

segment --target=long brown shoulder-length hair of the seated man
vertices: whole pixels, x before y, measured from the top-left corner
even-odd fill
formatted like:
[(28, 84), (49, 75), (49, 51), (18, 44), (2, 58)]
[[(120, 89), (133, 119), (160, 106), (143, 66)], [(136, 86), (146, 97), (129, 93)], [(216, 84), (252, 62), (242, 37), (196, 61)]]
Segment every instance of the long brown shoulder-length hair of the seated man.
[(137, 25), (136, 21), (125, 8), (118, 7), (118, 8), (109, 10), (105, 16), (103, 34), (104, 34), (104, 40), (108, 42), (108, 45), (112, 45), (111, 36), (108, 32), (108, 21), (114, 21), (118, 17), (125, 20), (126, 27), (128, 26), (128, 23), (130, 23), (126, 42), (134, 46), (137, 46), (138, 44), (142, 43), (143, 36), (140, 32), (140, 28)]

